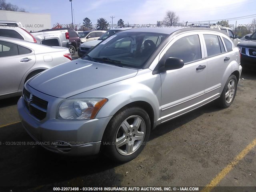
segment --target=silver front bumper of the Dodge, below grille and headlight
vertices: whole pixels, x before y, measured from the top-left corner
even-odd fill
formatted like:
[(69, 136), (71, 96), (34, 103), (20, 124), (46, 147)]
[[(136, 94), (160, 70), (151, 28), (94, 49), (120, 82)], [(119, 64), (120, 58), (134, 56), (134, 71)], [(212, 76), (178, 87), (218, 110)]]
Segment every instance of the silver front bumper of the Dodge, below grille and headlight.
[(18, 113), (24, 129), (38, 144), (69, 155), (98, 154), (104, 130), (112, 118), (39, 121), (31, 116), (22, 97), (18, 101)]

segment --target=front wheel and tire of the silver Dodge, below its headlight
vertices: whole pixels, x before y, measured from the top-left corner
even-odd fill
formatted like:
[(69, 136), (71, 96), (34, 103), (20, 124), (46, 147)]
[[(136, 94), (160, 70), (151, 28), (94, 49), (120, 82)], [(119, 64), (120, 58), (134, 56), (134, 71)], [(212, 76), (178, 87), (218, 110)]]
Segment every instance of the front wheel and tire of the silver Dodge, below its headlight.
[(136, 158), (150, 135), (150, 118), (139, 107), (123, 108), (109, 122), (102, 138), (102, 151), (116, 162)]

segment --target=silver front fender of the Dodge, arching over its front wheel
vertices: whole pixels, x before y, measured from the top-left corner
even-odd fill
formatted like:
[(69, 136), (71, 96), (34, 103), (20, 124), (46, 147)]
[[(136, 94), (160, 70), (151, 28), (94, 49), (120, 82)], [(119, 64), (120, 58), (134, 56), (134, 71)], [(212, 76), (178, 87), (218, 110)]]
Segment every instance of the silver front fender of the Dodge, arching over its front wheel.
[(143, 101), (150, 104), (154, 112), (154, 122), (160, 117), (161, 79), (160, 74), (152, 75), (149, 69), (126, 80), (108, 84), (76, 95), (77, 98), (104, 97), (108, 102), (100, 109), (96, 118), (113, 116), (124, 106)]

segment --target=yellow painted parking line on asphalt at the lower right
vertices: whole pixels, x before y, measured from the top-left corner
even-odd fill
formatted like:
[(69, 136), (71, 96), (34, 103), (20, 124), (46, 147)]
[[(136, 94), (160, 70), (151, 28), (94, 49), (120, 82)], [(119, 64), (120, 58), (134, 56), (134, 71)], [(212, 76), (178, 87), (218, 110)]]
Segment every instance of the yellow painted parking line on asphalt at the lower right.
[(244, 150), (242, 150), (242, 152), (240, 152), (240, 154), (238, 154), (238, 156), (236, 156), (236, 158), (234, 158), (234, 160), (228, 166), (226, 166), (205, 188), (203, 188), (202, 192), (210, 192), (213, 187), (217, 186), (218, 183), (226, 176), (226, 174), (228, 174), (234, 168), (234, 166), (236, 166), (236, 164), (238, 164), (238, 162), (244, 158), (244, 156), (246, 156), (246, 154), (248, 154), (248, 152), (250, 152), (250, 150), (255, 146), (256, 139), (246, 146), (246, 148), (244, 148)]

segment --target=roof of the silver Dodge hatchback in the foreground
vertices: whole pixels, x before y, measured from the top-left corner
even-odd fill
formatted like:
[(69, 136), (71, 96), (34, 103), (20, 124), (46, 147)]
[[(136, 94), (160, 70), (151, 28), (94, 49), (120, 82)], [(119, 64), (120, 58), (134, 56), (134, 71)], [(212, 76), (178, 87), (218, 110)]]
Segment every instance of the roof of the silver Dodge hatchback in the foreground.
[[(213, 31), (213, 32), (220, 32), (217, 31), (216, 29), (214, 30), (213, 28), (204, 28), (204, 27), (176, 27), (176, 26), (172, 26), (172, 27), (144, 27), (144, 28), (132, 28), (129, 30), (125, 30), (125, 32), (152, 32), (152, 33), (162, 33), (162, 34), (173, 34), (175, 33), (182, 33), (182, 32), (187, 32), (187, 31), (202, 31), (202, 30), (206, 30), (206, 31)], [(120, 31), (119, 33), (122, 33), (122, 31)]]

